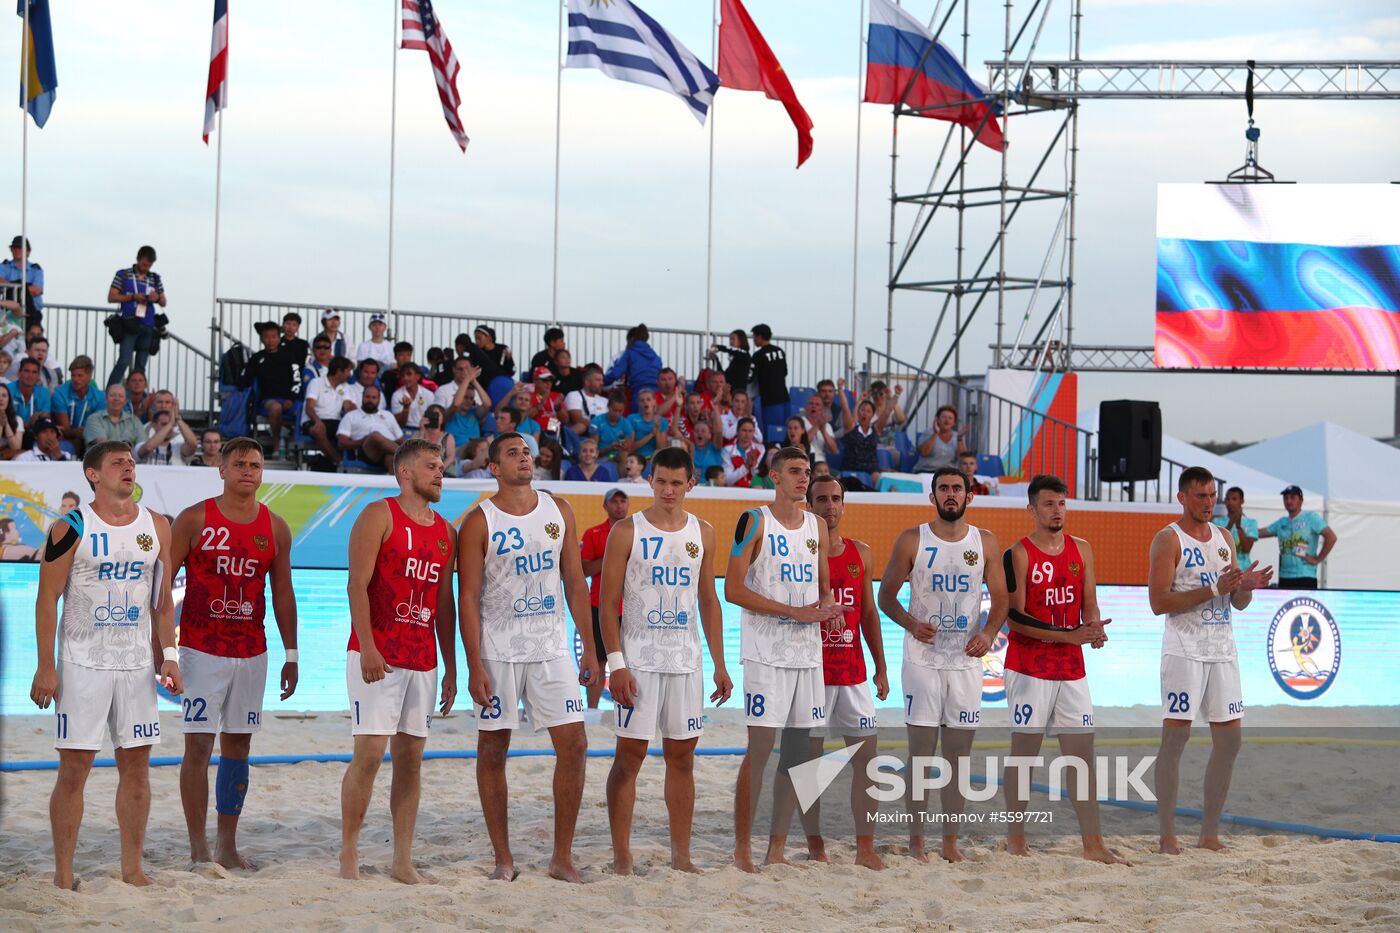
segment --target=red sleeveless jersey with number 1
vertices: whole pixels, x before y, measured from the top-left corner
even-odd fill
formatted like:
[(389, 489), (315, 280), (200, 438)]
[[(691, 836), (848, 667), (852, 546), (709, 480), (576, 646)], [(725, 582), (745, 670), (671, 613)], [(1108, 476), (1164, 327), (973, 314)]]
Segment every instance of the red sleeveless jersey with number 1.
[[(438, 587), (449, 577), (452, 551), (447, 521), (437, 513), (433, 524), (409, 518), (392, 496), (389, 537), (379, 545), (370, 577), (370, 628), (374, 647), (389, 667), (431, 671), (437, 667)], [(360, 637), (350, 629), (351, 651)]]

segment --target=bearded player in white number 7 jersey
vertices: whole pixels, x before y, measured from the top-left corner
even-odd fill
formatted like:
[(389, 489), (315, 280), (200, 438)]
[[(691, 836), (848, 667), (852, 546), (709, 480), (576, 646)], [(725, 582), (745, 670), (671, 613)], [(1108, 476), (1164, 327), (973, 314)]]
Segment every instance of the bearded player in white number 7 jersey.
[[(934, 472), (930, 500), (934, 521), (903, 531), (895, 541), (881, 576), (879, 605), (904, 629), (904, 723), (909, 727), (910, 768), (932, 758), (942, 730), (944, 758), (952, 769), (941, 793), (944, 807), (942, 856), (962, 862), (959, 818), (967, 807), (959, 770), (967, 766), (972, 740), (981, 720), (981, 657), (1007, 621), (1009, 600), (1001, 566), (1001, 544), (963, 516), (972, 502), (967, 476), (956, 466)], [(899, 591), (909, 580), (909, 609)], [(981, 588), (991, 608), (981, 619)], [(924, 852), (924, 814), (928, 804), (914, 799), (920, 780), (907, 783), (909, 853), (928, 862)]]

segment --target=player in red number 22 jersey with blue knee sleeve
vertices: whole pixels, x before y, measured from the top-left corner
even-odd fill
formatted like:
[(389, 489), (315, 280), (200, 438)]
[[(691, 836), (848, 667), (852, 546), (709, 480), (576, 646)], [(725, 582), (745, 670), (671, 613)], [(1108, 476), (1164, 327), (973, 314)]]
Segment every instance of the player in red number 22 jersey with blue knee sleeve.
[(291, 531), (258, 502), (262, 447), (252, 438), (234, 437), (224, 444), (221, 461), (224, 493), (182, 511), (171, 531), (171, 566), (183, 565), (186, 579), (179, 626), (179, 665), (185, 672), (179, 796), (189, 857), (210, 862), (204, 835), (209, 759), (218, 735), (213, 860), (225, 869), (252, 869), (238, 855), (237, 834), (248, 793), (248, 751), (262, 727), (267, 688), (265, 581), (272, 579), (272, 605), (287, 658), (281, 699), (297, 689), (297, 598), (291, 590)]

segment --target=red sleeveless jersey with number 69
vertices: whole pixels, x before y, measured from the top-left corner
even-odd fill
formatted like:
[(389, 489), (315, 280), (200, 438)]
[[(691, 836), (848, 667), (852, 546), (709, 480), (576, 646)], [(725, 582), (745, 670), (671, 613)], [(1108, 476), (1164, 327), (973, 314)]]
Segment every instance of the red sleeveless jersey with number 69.
[[(1084, 608), (1084, 558), (1074, 538), (1064, 537), (1060, 553), (1050, 555), (1022, 538), (1026, 549), (1026, 615), (1058, 629), (1079, 625)], [(1084, 677), (1084, 647), (1061, 642), (1042, 642), (1012, 630), (1007, 643), (1008, 671), (1029, 674), (1043, 681), (1077, 681)]]

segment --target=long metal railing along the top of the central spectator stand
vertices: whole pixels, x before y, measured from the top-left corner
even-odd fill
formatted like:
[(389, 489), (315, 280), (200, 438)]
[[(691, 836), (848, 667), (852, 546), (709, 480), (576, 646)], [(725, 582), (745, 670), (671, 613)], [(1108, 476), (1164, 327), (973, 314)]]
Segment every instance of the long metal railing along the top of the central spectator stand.
[[(340, 314), (340, 333), (351, 353), (361, 340), (368, 339), (370, 315), (384, 312), (384, 308), (343, 304), (218, 298), (218, 325), (227, 336), (218, 335), (214, 356), (217, 359), (223, 354), (230, 336), (256, 349), (258, 335), (253, 331), (253, 324), (259, 321), (280, 322), (288, 311), (301, 315), (301, 336), (309, 340), (321, 331), (321, 312), (330, 307)], [(465, 333), (470, 339), (472, 329), (479, 324), (491, 326), (496, 331), (496, 340), (511, 347), (517, 377), (524, 375), (531, 357), (545, 346), (545, 329), (550, 326), (549, 321), (395, 310), (391, 321), (392, 333), (388, 339), (412, 343), (414, 359), (423, 363), (428, 347), (451, 349), (458, 335)], [(575, 367), (598, 363), (603, 368), (608, 368), (627, 346), (627, 331), (630, 329), (630, 325), (584, 321), (560, 321), (559, 326), (564, 329), (564, 342), (573, 354)], [(727, 342), (724, 335), (706, 335), (704, 331), (651, 326), (650, 324), (647, 329), (651, 332), (651, 347), (661, 356), (662, 363), (686, 378), (694, 378), (706, 366), (704, 356), (711, 343)], [(815, 387), (819, 380), (834, 380), (844, 375), (854, 359), (851, 343), (846, 340), (774, 336), (773, 342), (780, 345), (787, 354), (788, 385), (794, 387)]]

